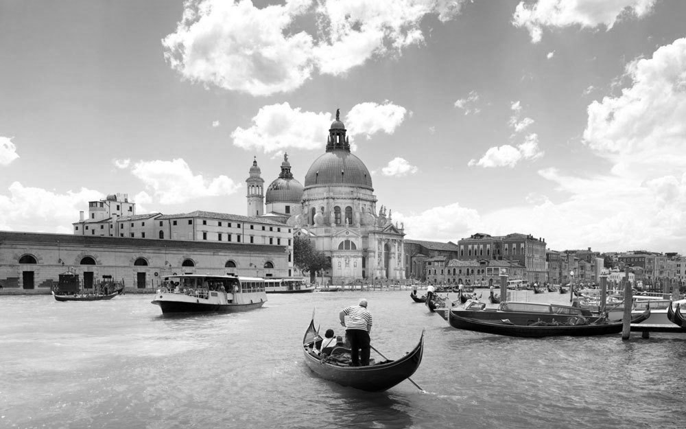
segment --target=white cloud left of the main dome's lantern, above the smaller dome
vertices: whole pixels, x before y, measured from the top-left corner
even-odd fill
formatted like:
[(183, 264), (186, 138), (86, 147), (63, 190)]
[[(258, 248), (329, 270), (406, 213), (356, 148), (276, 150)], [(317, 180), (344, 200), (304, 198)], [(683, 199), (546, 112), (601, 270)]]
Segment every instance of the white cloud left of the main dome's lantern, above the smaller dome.
[(287, 148), (318, 149), (327, 143), (333, 118), (330, 113), (303, 112), (286, 102), (263, 106), (252, 118), (250, 128), (236, 128), (231, 133), (233, 144), (264, 153)]

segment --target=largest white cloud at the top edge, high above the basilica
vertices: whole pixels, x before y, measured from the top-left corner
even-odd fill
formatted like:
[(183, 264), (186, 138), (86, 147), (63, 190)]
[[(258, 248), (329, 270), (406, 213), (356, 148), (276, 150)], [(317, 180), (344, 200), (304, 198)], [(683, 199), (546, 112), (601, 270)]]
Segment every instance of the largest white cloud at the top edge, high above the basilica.
[[(249, 0), (189, 0), (162, 40), (182, 78), (251, 95), (293, 91), (314, 73), (334, 76), (374, 56), (424, 42), (421, 20), (459, 14), (456, 0), (289, 0), (257, 8)], [(314, 21), (314, 31), (300, 29)], [(306, 25), (303, 25), (306, 27)]]

